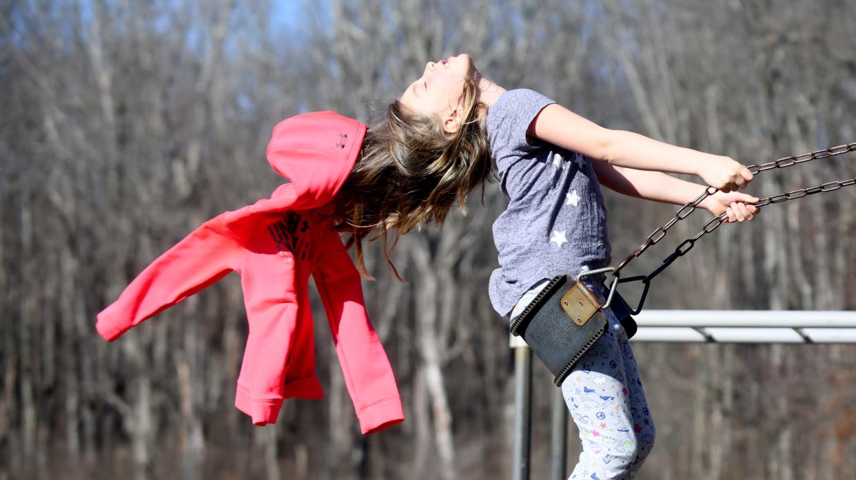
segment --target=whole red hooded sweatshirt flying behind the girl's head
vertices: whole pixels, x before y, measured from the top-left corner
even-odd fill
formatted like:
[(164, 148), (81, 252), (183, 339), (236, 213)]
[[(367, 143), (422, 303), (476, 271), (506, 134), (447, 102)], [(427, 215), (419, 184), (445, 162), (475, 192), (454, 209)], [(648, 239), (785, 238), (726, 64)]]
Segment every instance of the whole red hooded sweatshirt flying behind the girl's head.
[(401, 423), (401, 397), (366, 315), (360, 274), (328, 217), (330, 200), (354, 167), (365, 133), (364, 124), (331, 111), (280, 122), (267, 157), (291, 183), (276, 188), (270, 199), (223, 212), (164, 252), (98, 313), (98, 333), (114, 341), (237, 271), (249, 335), (235, 406), (253, 424), (273, 424), (283, 399), (324, 396), (315, 375), (311, 274), (360, 430), (370, 434)]

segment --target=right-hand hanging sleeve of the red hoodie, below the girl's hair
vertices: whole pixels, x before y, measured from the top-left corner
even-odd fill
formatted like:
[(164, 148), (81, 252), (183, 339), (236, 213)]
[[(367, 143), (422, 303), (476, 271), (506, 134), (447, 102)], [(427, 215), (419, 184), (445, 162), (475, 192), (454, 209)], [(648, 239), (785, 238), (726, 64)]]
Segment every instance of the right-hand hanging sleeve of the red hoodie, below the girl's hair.
[(312, 276), (324, 302), (360, 430), (364, 435), (376, 433), (404, 421), (401, 396), (389, 358), (366, 313), (360, 272), (339, 234), (324, 228), (322, 237)]

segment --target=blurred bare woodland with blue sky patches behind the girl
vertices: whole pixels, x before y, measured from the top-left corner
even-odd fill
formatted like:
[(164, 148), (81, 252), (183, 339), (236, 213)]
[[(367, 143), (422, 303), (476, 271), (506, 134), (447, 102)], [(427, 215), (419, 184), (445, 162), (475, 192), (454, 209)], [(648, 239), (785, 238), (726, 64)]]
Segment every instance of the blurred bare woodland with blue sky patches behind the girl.
[[(764, 163), (856, 140), (854, 23), (849, 0), (0, 1), (0, 478), (509, 477), (512, 357), (486, 293), (496, 183), (442, 232), (402, 240), (409, 285), (372, 250), (368, 309), (407, 417), (375, 436), (360, 436), (321, 309), (326, 396), (289, 400), (266, 428), (233, 406), (238, 276), (113, 343), (95, 315), (206, 219), (270, 195), (276, 121), (376, 120), (428, 60), (467, 51), (502, 86), (604, 127)], [(851, 154), (748, 191), (854, 172)], [(617, 260), (675, 211), (605, 194)], [(646, 307), (856, 309), (854, 200), (842, 189), (719, 228)], [(856, 347), (634, 348), (657, 423), (639, 480), (853, 478)], [(548, 471), (550, 379), (536, 364), (533, 478)]]

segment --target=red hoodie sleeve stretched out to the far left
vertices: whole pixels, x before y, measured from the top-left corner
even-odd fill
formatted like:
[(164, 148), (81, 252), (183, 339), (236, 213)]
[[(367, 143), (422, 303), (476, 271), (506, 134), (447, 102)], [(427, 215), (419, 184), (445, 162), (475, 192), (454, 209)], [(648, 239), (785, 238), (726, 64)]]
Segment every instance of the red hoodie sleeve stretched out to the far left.
[(203, 223), (149, 264), (119, 299), (98, 313), (98, 334), (116, 340), (146, 318), (238, 270), (242, 253), (223, 214)]

